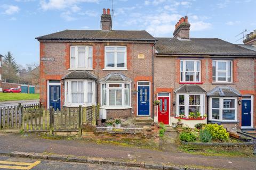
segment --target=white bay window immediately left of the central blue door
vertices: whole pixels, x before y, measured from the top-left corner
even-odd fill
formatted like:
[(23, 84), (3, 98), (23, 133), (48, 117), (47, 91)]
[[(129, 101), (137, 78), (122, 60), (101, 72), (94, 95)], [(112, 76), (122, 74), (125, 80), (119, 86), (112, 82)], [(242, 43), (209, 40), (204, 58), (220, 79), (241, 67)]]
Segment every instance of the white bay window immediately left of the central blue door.
[(102, 83), (101, 106), (106, 108), (130, 108), (130, 83)]

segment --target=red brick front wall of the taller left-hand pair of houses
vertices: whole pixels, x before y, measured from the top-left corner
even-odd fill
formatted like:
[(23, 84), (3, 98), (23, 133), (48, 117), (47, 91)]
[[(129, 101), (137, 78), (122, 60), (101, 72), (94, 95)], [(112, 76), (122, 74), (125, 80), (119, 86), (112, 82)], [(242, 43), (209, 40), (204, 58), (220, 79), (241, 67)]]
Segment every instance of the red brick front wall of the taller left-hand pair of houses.
[[(44, 106), (47, 106), (47, 80), (61, 80), (61, 78), (70, 71), (70, 45), (90, 45), (93, 46), (93, 70), (90, 71), (98, 80), (109, 73), (123, 73), (126, 77), (132, 79), (131, 90), (137, 90), (137, 81), (147, 80), (152, 82), (152, 64), (153, 64), (153, 44), (146, 43), (40, 43), (40, 58), (44, 56), (54, 57), (55, 61), (40, 61), (40, 100)], [(127, 47), (127, 70), (126, 71), (107, 71), (102, 70), (105, 67), (105, 46), (118, 45)], [(145, 59), (139, 59), (138, 54), (144, 54)], [(98, 84), (99, 85), (99, 84)], [(152, 87), (152, 86), (151, 86)], [(100, 102), (100, 86), (98, 86), (97, 100)], [(151, 92), (151, 99), (152, 97)], [(137, 95), (131, 96), (132, 109), (121, 109), (107, 111), (109, 117), (127, 117), (128, 115), (137, 115)], [(64, 88), (61, 82), (61, 106), (64, 101)], [(152, 100), (151, 100), (152, 101)], [(151, 109), (152, 111), (152, 109)]]

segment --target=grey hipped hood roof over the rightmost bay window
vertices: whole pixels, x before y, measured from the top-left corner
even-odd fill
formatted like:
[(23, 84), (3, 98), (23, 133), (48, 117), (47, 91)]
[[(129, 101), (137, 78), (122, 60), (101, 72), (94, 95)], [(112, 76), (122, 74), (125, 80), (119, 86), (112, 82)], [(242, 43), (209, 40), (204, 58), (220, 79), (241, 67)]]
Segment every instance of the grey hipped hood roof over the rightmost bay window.
[(207, 96), (242, 96), (236, 89), (231, 87), (215, 87)]

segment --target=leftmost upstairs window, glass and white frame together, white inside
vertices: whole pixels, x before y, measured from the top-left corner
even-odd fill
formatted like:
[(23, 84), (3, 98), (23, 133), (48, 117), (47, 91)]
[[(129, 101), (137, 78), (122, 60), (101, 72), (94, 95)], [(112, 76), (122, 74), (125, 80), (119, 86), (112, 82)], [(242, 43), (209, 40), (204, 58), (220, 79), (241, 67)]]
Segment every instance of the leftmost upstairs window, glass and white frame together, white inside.
[(70, 46), (70, 69), (92, 70), (92, 46)]

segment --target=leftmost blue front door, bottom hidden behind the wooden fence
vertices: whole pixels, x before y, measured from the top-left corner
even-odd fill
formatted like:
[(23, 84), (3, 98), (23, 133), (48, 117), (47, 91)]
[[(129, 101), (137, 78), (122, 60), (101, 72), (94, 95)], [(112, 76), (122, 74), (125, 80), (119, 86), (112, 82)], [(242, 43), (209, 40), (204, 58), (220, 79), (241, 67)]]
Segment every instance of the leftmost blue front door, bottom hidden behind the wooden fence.
[(50, 85), (50, 106), (53, 106), (56, 111), (57, 108), (60, 110), (60, 86), (59, 85)]

